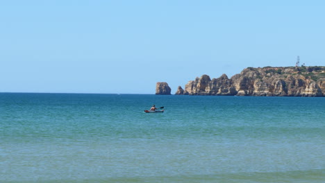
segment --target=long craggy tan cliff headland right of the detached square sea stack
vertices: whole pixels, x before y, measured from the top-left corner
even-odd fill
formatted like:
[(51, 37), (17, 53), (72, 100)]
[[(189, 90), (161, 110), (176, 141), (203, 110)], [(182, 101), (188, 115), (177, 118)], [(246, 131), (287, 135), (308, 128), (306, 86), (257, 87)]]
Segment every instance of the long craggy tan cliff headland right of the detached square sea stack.
[(325, 96), (325, 67), (263, 67), (244, 69), (230, 79), (226, 74), (191, 80), (177, 95)]

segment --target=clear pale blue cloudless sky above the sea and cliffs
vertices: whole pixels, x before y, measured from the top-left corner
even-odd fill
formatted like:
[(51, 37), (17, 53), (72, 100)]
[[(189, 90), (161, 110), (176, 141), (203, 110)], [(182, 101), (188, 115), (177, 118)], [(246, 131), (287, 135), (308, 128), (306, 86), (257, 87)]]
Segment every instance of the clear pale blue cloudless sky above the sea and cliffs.
[(325, 63), (325, 1), (1, 1), (0, 92), (154, 94)]

